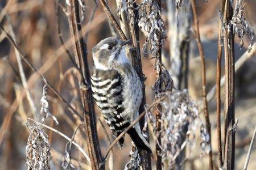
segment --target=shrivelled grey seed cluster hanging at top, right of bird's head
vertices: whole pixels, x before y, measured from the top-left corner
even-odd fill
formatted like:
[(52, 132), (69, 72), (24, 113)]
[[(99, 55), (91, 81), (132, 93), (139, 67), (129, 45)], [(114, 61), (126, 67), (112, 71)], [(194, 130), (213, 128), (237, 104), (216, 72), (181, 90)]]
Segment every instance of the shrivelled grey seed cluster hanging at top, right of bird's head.
[[(160, 7), (153, 0), (143, 0), (142, 11), (139, 15), (139, 27), (146, 36), (146, 42), (143, 46), (145, 53), (146, 45), (150, 45), (150, 52), (153, 57), (156, 57), (159, 48), (164, 44), (164, 39), (167, 37), (166, 26), (161, 18)], [(150, 9), (147, 12), (147, 9)]]

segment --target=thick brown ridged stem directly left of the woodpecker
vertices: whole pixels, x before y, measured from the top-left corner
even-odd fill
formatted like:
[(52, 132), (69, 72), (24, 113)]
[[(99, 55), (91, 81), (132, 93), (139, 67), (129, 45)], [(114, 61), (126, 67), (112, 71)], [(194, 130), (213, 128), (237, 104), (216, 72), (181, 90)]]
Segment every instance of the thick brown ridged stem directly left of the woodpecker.
[[(69, 29), (73, 37), (74, 53), (76, 63), (82, 74), (79, 77), (80, 96), (84, 108), (85, 133), (87, 139), (87, 147), (89, 151), (92, 169), (99, 169), (102, 162), (100, 145), (98, 143), (96, 114), (93, 108), (92, 89), (90, 88), (90, 73), (87, 62), (86, 44), (81, 36), (81, 25), (79, 16), (79, 2), (76, 0), (69, 1)], [(85, 81), (84, 81), (85, 80)], [(102, 169), (105, 169), (102, 167)]]

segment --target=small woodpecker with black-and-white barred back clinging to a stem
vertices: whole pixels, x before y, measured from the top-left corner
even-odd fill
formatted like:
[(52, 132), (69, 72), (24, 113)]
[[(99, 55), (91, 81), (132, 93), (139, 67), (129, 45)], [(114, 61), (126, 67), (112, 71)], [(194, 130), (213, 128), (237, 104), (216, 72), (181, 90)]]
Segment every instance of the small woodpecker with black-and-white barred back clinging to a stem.
[[(92, 49), (93, 98), (115, 138), (139, 116), (142, 101), (141, 80), (125, 53), (125, 45), (129, 41), (108, 37)], [(139, 123), (127, 133), (139, 152), (146, 150), (152, 153), (150, 145), (141, 133)], [(119, 139), (120, 147), (124, 141), (123, 137)]]

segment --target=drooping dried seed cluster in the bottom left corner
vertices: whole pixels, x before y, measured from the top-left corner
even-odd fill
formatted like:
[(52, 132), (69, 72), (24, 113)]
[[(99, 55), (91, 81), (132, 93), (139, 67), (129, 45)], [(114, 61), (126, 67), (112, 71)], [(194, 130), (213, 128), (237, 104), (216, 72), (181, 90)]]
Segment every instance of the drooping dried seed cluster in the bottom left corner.
[(28, 128), (30, 129), (26, 146), (28, 169), (49, 169), (51, 154), (47, 134), (36, 124)]

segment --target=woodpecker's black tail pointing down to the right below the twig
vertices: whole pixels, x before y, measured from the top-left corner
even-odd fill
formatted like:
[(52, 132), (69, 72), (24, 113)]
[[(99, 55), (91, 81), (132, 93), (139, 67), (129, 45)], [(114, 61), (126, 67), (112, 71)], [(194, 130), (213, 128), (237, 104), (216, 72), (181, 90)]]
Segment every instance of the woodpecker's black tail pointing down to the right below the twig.
[(130, 135), (131, 140), (133, 140), (135, 146), (138, 148), (139, 151), (145, 150), (148, 153), (152, 154), (149, 143), (146, 141), (141, 133), (138, 133), (135, 128), (129, 129), (127, 133)]

